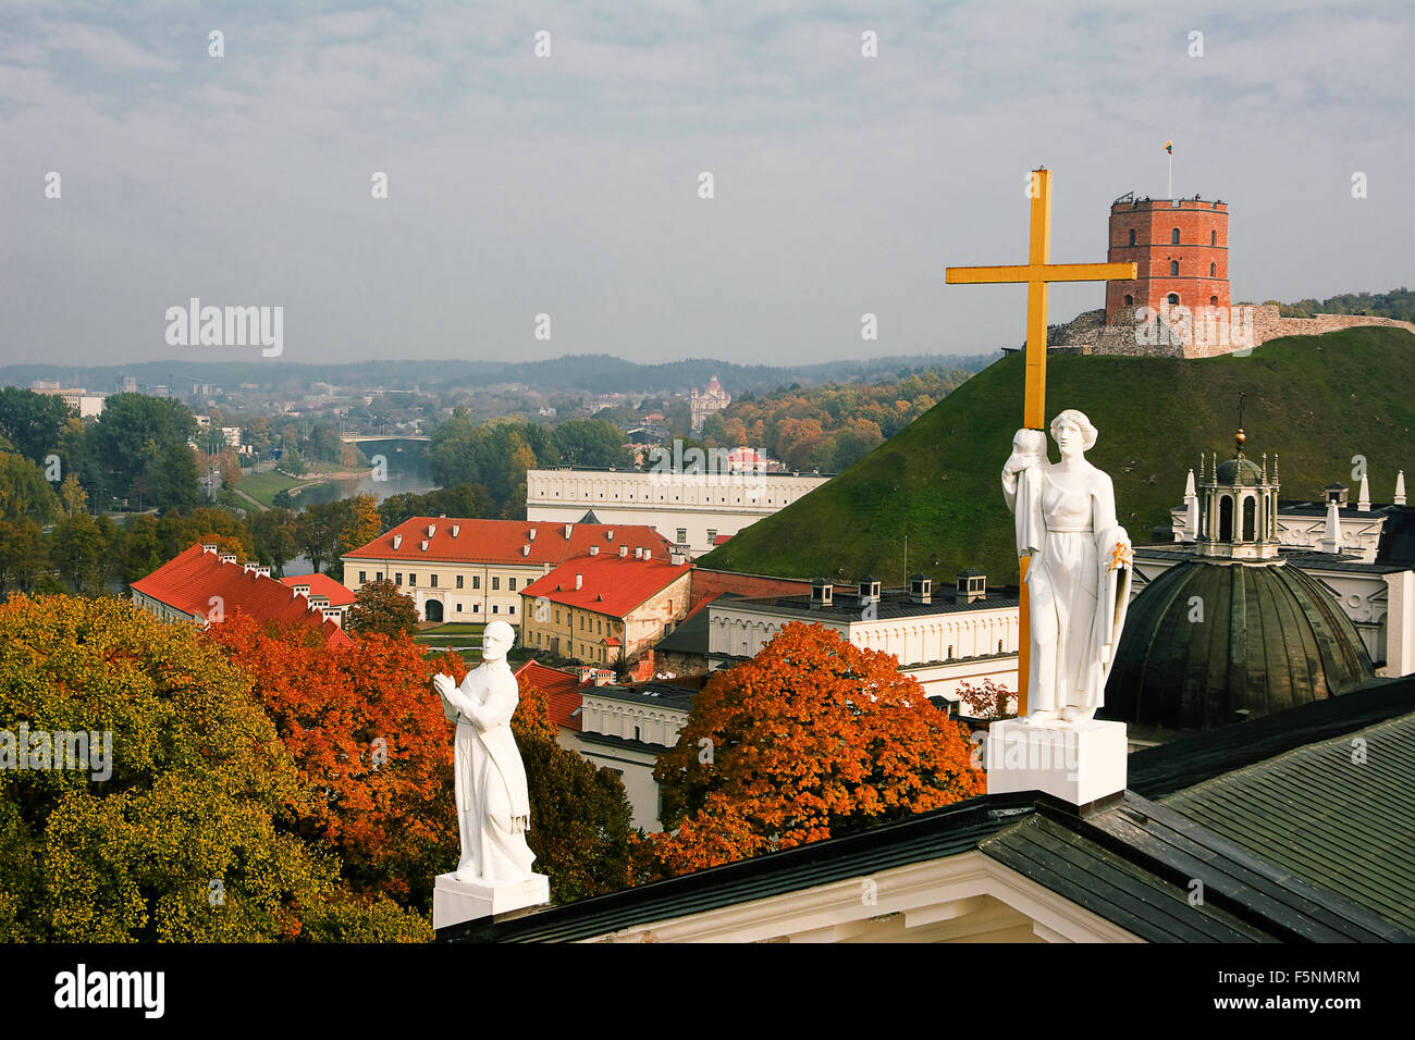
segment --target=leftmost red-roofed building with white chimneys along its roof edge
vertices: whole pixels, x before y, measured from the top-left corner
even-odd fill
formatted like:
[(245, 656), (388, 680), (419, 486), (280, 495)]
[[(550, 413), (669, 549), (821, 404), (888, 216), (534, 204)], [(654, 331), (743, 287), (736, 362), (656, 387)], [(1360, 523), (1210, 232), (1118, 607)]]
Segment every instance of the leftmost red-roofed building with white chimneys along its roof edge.
[(202, 628), (242, 613), (316, 628), (331, 644), (348, 641), (340, 608), (276, 582), (270, 567), (236, 563), (235, 553), (222, 553), (214, 543), (194, 545), (133, 582), (133, 603), (166, 621)]

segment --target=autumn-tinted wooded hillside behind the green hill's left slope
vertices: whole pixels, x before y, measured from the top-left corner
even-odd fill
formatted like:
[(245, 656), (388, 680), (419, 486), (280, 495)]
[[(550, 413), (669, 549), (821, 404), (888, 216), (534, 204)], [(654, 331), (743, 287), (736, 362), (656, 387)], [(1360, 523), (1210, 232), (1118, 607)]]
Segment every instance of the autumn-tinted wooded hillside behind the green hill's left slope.
[(924, 415), (971, 375), (964, 368), (901, 371), (883, 382), (743, 393), (703, 423), (709, 447), (747, 444), (792, 470), (839, 473)]

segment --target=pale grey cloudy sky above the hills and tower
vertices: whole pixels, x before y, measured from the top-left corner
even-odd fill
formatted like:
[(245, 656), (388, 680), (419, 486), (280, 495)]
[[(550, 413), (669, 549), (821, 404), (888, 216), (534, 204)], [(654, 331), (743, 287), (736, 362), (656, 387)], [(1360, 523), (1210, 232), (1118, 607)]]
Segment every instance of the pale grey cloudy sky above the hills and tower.
[[(1026, 289), (944, 267), (1026, 260), (1039, 164), (1051, 260), (1104, 260), (1111, 201), (1165, 197), (1166, 140), (1174, 194), (1230, 205), (1235, 301), (1387, 291), (1415, 270), (1412, 25), (1300, 0), (6, 0), (0, 365), (1015, 347)], [(1102, 296), (1053, 286), (1050, 320)], [(282, 307), (280, 355), (168, 345), (191, 297)]]

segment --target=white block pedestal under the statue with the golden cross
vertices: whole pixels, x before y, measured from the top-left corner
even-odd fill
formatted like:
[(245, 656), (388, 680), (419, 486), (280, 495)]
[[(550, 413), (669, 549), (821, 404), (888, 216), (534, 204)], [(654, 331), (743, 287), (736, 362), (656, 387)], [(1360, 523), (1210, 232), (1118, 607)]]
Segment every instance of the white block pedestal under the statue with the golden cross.
[(995, 722), (988, 730), (988, 794), (1044, 791), (1085, 805), (1125, 790), (1126, 751), (1124, 722)]

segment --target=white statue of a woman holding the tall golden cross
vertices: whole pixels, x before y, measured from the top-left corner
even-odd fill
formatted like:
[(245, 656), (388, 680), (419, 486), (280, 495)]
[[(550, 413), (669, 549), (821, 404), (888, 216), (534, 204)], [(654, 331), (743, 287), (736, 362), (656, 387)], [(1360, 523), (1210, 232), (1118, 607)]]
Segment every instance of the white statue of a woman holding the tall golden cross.
[(1077, 409), (1051, 420), (1061, 461), (1051, 463), (1040, 430), (1017, 430), (1002, 470), (1016, 521), (1017, 556), (1030, 556), (1027, 722), (1087, 723), (1125, 625), (1131, 538), (1115, 519), (1111, 478), (1085, 461), (1097, 430)]

